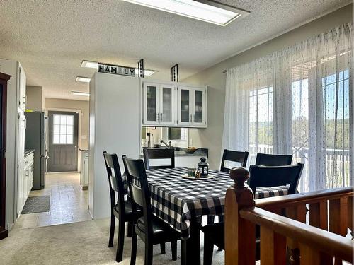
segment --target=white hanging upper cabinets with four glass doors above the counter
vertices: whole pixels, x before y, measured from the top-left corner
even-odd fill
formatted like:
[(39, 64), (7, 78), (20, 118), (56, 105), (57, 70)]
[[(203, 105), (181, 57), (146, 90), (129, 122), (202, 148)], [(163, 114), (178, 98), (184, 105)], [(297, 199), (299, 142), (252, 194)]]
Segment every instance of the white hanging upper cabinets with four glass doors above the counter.
[(142, 125), (207, 126), (207, 88), (143, 82)]

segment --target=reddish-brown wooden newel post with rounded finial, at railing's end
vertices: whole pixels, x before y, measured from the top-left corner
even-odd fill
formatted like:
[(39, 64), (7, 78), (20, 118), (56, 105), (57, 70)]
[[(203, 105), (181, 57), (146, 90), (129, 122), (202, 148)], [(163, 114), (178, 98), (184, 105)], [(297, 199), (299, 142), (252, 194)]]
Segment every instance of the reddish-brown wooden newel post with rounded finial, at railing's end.
[(254, 207), (252, 190), (246, 184), (249, 171), (244, 167), (234, 167), (229, 172), (234, 180), (226, 192), (225, 199), (225, 264), (255, 264), (256, 228), (248, 220), (240, 218), (239, 211)]

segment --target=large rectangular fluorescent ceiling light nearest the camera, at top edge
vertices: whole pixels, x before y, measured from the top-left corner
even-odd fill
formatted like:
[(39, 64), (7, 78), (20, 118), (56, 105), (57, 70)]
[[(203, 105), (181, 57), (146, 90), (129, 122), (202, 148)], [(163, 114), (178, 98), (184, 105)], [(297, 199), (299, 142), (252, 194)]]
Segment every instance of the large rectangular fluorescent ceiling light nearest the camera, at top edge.
[(149, 8), (159, 9), (180, 16), (194, 18), (205, 22), (227, 25), (239, 16), (246, 16), (244, 11), (234, 6), (221, 4), (212, 0), (123, 0)]

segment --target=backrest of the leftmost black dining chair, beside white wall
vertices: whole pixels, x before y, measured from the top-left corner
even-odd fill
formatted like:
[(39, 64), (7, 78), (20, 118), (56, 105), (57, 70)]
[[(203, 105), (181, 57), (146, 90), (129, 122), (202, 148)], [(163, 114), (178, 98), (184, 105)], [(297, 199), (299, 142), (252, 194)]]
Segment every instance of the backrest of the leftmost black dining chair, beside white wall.
[[(110, 154), (104, 151), (103, 158), (105, 160), (105, 168), (107, 170), (108, 184), (110, 187), (110, 206), (113, 208), (115, 204), (118, 204), (119, 211), (123, 214), (125, 192), (118, 157), (116, 154)], [(115, 192), (118, 194), (117, 201), (115, 201)]]

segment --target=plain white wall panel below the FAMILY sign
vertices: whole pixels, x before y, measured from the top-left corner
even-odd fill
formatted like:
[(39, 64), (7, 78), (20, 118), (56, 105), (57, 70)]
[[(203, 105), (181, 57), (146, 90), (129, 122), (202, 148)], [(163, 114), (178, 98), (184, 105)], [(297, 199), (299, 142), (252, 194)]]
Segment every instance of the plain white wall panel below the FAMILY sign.
[(90, 82), (89, 211), (94, 219), (110, 216), (108, 176), (103, 151), (139, 158), (140, 79), (95, 73)]

